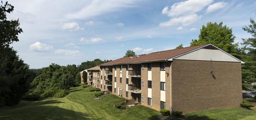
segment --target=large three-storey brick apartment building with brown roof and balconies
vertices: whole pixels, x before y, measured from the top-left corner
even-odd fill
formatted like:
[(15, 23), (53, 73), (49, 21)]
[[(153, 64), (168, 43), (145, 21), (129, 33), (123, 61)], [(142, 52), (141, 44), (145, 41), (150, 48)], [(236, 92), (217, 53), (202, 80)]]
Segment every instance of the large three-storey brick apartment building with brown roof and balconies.
[(96, 87), (156, 110), (234, 107), (242, 102), (241, 63), (212, 44), (157, 51), (100, 64)]

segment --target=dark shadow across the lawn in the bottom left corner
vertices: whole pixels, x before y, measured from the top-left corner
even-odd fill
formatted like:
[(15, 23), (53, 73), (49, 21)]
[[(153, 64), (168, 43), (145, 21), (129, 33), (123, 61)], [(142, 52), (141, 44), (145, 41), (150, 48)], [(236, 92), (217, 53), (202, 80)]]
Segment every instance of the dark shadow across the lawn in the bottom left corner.
[[(91, 119), (88, 114), (66, 109), (59, 106), (51, 106), (53, 103), (64, 103), (56, 100), (38, 101), (38, 103), (26, 106), (3, 110), (0, 113), (0, 119)], [(61, 106), (65, 106), (63, 104)], [(69, 107), (68, 107), (69, 108)], [(104, 119), (104, 118), (100, 118)]]

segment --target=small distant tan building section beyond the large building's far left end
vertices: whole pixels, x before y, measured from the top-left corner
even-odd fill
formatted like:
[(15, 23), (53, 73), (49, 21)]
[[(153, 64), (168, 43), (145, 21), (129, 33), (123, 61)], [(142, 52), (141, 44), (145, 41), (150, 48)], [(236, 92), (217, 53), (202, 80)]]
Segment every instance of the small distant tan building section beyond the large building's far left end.
[(93, 85), (95, 87), (100, 87), (101, 83), (100, 81), (100, 67), (95, 66), (92, 68), (87, 69), (87, 79), (88, 79), (88, 84)]

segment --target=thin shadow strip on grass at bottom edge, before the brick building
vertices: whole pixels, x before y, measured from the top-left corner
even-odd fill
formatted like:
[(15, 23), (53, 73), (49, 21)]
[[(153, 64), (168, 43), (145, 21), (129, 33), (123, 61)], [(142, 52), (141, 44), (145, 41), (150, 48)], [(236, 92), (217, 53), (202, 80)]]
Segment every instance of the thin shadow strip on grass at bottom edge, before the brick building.
[(149, 120), (215, 120), (211, 119), (208, 116), (198, 116), (198, 115), (189, 115), (189, 116), (163, 116), (163, 115), (153, 115)]

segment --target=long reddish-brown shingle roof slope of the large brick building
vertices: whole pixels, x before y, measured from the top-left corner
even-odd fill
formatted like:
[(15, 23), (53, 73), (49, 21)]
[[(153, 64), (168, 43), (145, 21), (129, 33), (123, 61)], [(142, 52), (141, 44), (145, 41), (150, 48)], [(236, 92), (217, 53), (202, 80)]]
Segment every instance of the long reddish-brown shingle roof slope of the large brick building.
[(157, 52), (152, 52), (152, 53), (149, 53), (149, 54), (141, 54), (141, 55), (133, 56), (133, 57), (118, 58), (118, 59), (100, 64), (100, 66), (137, 63), (137, 62), (139, 63), (139, 62), (150, 62), (150, 61), (163, 61), (163, 60), (167, 60), (167, 59), (172, 58), (174, 56), (180, 55), (182, 53), (191, 51), (193, 49), (196, 49), (196, 48), (199, 48), (199, 47), (202, 47), (202, 46), (205, 46), (205, 45), (206, 44), (202, 44), (202, 45), (189, 46), (189, 47), (178, 48), (178, 49), (157, 51)]

